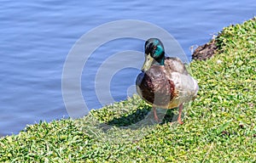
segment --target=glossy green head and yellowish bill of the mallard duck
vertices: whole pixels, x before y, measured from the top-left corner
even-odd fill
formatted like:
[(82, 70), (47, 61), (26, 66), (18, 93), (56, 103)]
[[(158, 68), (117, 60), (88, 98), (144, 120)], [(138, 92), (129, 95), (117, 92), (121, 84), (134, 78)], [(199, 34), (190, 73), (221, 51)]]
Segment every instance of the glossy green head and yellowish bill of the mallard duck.
[(151, 65), (165, 65), (165, 48), (158, 38), (149, 38), (145, 42), (145, 61), (142, 70), (147, 71)]

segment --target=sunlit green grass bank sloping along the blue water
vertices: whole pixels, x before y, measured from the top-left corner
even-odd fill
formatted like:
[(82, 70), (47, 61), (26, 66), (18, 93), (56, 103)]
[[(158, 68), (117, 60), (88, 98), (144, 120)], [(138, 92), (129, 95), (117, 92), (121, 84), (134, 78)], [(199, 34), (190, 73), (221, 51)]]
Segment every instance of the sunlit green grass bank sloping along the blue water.
[(190, 64), (200, 91), (183, 125), (170, 123), (177, 110), (154, 125), (151, 107), (134, 96), (83, 119), (40, 122), (1, 138), (0, 161), (255, 162), (255, 18), (225, 27), (216, 40), (218, 54)]

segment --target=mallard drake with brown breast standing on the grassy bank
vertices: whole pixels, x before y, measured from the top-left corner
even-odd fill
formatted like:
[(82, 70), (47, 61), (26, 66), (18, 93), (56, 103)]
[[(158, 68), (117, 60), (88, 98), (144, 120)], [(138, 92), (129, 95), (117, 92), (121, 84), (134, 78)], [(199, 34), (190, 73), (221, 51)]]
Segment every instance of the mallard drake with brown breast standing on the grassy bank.
[(183, 103), (196, 97), (198, 85), (181, 59), (165, 56), (160, 39), (150, 38), (145, 42), (145, 61), (142, 72), (137, 76), (137, 93), (148, 104), (152, 104), (154, 120), (159, 121), (156, 107), (179, 108), (177, 121), (181, 120)]

